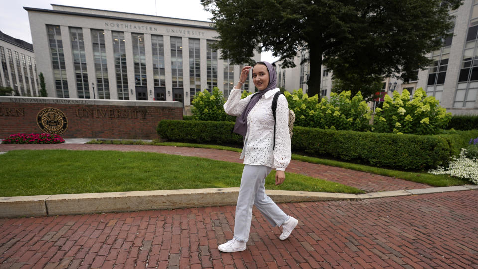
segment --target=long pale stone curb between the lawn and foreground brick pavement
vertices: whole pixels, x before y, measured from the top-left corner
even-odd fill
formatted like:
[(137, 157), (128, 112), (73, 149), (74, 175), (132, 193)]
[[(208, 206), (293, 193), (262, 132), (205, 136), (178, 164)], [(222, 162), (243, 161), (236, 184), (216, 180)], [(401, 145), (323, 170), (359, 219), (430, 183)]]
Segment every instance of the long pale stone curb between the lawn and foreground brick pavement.
[[(266, 190), (277, 203), (360, 200), (478, 189), (477, 185), (384, 191), (366, 194)], [(239, 188), (104, 192), (0, 197), (0, 217), (41, 217), (106, 212), (235, 205)]]

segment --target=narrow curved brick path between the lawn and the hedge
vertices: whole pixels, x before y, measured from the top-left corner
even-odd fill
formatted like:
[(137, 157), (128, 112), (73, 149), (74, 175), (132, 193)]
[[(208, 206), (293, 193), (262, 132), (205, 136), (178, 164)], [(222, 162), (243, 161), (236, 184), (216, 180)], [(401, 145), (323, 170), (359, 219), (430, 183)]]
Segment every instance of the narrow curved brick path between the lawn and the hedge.
[[(116, 151), (144, 151), (165, 154), (203, 157), (214, 160), (242, 163), (240, 153), (205, 148), (174, 147), (174, 146), (147, 146), (147, 145), (94, 145), (94, 144), (0, 144), (0, 152), (16, 149), (69, 149), (69, 150), (116, 150)], [(354, 171), (339, 167), (313, 164), (292, 160), (287, 172), (303, 174), (338, 182), (367, 192), (423, 189), (430, 186), (407, 180)]]

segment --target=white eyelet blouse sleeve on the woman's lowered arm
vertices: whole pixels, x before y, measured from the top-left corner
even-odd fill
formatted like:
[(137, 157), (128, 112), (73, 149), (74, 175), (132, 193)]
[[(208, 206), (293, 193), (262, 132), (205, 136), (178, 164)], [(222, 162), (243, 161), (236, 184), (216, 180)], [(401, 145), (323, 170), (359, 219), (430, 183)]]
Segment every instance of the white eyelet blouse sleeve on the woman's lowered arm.
[(274, 149), (274, 168), (284, 171), (291, 158), (291, 144), (289, 134), (289, 106), (285, 96), (280, 95), (277, 100), (276, 130)]

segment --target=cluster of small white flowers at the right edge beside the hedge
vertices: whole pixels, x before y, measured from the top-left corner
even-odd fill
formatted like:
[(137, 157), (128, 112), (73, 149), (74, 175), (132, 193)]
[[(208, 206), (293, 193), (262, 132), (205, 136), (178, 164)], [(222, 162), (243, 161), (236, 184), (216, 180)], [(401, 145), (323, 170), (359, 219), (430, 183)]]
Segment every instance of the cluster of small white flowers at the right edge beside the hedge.
[(466, 157), (467, 150), (462, 148), (459, 157), (452, 157), (452, 161), (447, 169), (438, 166), (437, 169), (428, 171), (435, 175), (451, 175), (462, 179), (468, 179), (478, 185), (478, 159), (469, 159)]

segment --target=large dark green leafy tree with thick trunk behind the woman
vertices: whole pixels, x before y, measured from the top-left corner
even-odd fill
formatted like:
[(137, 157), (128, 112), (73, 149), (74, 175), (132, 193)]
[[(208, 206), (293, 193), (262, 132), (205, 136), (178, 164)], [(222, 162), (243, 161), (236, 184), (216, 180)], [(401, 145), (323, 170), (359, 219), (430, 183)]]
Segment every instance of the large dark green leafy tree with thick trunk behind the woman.
[[(216, 48), (234, 64), (273, 51), (284, 67), (308, 53), (309, 94), (320, 91), (321, 65), (334, 77), (369, 80), (428, 66), (425, 54), (452, 27), (450, 9), (463, 0), (201, 0), (219, 33)], [(239, 40), (239, 41), (238, 41)], [(324, 58), (322, 58), (324, 57)], [(366, 81), (365, 81), (366, 82)], [(349, 89), (352, 90), (352, 89)], [(367, 96), (365, 96), (367, 97)]]

